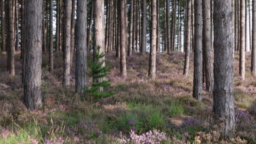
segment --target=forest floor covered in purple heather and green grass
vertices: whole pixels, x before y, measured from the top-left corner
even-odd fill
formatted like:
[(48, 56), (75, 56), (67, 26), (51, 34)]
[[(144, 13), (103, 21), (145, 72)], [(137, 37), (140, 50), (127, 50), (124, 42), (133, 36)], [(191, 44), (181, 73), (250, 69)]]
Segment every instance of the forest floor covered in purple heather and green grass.
[[(91, 54), (90, 54), (91, 55)], [(234, 58), (236, 127), (222, 143), (256, 141), (256, 77), (250, 74), (251, 54), (246, 52), (245, 81)], [(126, 58), (127, 78), (120, 77), (119, 59), (106, 53), (112, 67), (109, 98), (81, 100), (75, 94), (75, 60), (71, 85), (63, 88), (62, 53), (54, 53), (54, 74), (49, 55), (42, 58), (43, 108), (29, 111), (23, 105), (22, 61), (15, 54), (15, 76), (10, 76), (6, 53), (0, 54), (0, 143), (220, 143), (223, 119), (212, 113), (213, 95), (203, 87), (203, 101), (193, 93), (193, 57), (189, 76), (183, 76), (185, 53), (157, 53), (156, 80), (148, 77), (149, 54)], [(92, 78), (87, 77), (90, 86)], [(205, 86), (205, 85), (204, 85)]]

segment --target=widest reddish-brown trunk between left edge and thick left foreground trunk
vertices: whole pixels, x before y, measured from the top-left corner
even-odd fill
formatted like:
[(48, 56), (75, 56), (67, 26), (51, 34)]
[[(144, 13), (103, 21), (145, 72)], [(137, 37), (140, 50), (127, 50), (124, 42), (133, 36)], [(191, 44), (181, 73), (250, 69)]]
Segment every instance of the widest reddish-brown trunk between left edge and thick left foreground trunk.
[(14, 68), (14, 13), (13, 10), (15, 5), (13, 5), (12, 1), (8, 2), (9, 4), (9, 58), (10, 58), (10, 69), (9, 74), (12, 76), (15, 75)]

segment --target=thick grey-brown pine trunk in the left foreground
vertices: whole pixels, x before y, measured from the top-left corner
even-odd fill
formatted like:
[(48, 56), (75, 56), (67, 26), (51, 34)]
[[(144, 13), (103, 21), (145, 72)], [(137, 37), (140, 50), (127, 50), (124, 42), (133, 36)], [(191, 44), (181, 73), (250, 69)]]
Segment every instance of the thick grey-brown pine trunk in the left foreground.
[(25, 1), (26, 30), (26, 74), (24, 103), (27, 109), (42, 107), (41, 65), (42, 65), (42, 1)]

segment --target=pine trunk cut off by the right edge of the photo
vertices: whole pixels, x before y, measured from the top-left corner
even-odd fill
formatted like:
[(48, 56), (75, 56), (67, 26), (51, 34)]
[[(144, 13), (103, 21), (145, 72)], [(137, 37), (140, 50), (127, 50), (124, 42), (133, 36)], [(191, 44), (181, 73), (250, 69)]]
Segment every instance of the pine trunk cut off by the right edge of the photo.
[(256, 0), (252, 0), (252, 60), (251, 73), (256, 75)]

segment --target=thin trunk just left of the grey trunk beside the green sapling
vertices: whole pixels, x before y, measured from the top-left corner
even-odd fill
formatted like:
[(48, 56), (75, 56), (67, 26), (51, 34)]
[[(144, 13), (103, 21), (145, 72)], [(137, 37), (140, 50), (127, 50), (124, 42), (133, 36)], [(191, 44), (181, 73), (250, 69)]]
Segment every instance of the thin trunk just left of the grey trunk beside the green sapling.
[(70, 68), (73, 64), (73, 53), (75, 50), (75, 10), (76, 10), (76, 0), (72, 0), (72, 8), (71, 8), (71, 39), (70, 39)]

